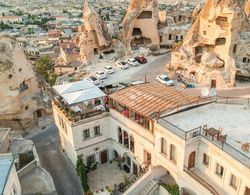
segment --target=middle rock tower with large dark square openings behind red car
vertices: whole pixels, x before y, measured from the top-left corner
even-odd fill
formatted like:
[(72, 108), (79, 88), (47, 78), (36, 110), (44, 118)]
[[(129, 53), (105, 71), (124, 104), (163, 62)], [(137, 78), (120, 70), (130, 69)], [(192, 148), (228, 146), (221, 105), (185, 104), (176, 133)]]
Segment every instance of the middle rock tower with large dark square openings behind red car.
[(130, 50), (133, 42), (159, 47), (157, 0), (131, 0), (123, 20), (123, 39)]

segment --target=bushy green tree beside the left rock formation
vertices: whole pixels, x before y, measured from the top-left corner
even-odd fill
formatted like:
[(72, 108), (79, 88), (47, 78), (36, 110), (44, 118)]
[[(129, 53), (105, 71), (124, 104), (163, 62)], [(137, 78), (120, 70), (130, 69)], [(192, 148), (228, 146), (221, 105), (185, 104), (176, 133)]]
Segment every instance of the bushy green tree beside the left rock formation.
[(40, 74), (50, 86), (56, 82), (56, 74), (54, 71), (54, 61), (49, 56), (43, 56), (35, 64), (36, 72)]

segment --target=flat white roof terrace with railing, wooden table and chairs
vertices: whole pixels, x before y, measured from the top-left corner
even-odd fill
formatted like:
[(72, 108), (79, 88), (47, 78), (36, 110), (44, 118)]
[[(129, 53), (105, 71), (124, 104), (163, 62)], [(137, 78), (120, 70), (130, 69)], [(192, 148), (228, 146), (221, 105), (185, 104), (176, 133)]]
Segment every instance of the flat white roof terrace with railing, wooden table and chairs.
[(203, 136), (250, 168), (249, 105), (211, 103), (159, 120), (179, 137)]

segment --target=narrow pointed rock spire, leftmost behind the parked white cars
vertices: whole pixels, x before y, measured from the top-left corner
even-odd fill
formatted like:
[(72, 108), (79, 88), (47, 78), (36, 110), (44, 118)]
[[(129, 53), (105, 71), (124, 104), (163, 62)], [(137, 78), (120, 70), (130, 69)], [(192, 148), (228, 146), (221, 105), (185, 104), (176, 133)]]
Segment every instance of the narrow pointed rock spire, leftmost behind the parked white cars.
[(90, 60), (94, 54), (111, 45), (107, 25), (101, 20), (95, 9), (85, 0), (83, 8), (84, 24), (80, 27), (79, 46), (81, 61)]

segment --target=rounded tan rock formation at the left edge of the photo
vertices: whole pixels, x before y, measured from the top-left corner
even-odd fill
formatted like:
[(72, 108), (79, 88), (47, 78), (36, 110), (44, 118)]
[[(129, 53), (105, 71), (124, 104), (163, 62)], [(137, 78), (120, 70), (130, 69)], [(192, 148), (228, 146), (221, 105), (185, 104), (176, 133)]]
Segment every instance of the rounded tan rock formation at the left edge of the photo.
[(27, 127), (45, 111), (32, 64), (17, 42), (6, 36), (0, 36), (0, 99), (0, 126), (18, 121)]

